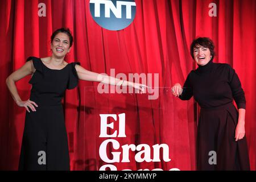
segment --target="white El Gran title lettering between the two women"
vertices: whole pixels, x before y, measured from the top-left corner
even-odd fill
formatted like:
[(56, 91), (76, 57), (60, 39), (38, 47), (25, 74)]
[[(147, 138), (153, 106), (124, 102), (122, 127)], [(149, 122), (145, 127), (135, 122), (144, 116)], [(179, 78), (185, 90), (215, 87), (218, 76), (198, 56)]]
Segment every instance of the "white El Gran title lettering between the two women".
[[(153, 149), (153, 158), (151, 159), (151, 147), (148, 144), (139, 144), (138, 146), (135, 146), (135, 144), (125, 144), (123, 146), (120, 146), (118, 140), (115, 139), (109, 139), (109, 138), (124, 138), (126, 137), (125, 134), (125, 113), (118, 114), (100, 114), (101, 117), (101, 127), (100, 127), (100, 138), (108, 138), (104, 140), (104, 142), (101, 143), (99, 154), (101, 160), (103, 160), (106, 163), (129, 163), (130, 162), (130, 156), (129, 151), (136, 151), (134, 160), (138, 163), (142, 162), (161, 162), (160, 160), (160, 149), (162, 148), (163, 151), (163, 161), (164, 162), (170, 162), (171, 159), (169, 158), (169, 146), (165, 143), (162, 144), (154, 144), (152, 146)], [(111, 117), (114, 119), (114, 121), (119, 121), (119, 127), (118, 130), (114, 130), (114, 122), (108, 123), (108, 118)], [(112, 134), (108, 134), (108, 128), (112, 129), (114, 132)], [(111, 152), (112, 158), (110, 159), (108, 156), (107, 148), (112, 146), (114, 150)], [(122, 160), (121, 160), (122, 156)], [(121, 161), (120, 161), (121, 160)], [(100, 171), (105, 171), (106, 168), (109, 168), (111, 171), (117, 171), (117, 167), (115, 167), (113, 164), (105, 164), (104, 166), (100, 167)], [(130, 170), (130, 169), (124, 169), (124, 170)], [(148, 169), (140, 169), (140, 170), (148, 170)], [(160, 168), (153, 169), (153, 170), (162, 170)], [(177, 168), (172, 168), (170, 170), (179, 170)]]

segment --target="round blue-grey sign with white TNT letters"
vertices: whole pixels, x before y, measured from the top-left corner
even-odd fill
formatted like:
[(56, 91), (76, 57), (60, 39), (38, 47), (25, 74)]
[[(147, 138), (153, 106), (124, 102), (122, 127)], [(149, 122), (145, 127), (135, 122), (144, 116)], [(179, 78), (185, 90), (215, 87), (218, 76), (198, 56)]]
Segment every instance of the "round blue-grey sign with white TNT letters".
[(136, 14), (134, 0), (90, 0), (94, 21), (108, 30), (122, 30), (133, 22)]

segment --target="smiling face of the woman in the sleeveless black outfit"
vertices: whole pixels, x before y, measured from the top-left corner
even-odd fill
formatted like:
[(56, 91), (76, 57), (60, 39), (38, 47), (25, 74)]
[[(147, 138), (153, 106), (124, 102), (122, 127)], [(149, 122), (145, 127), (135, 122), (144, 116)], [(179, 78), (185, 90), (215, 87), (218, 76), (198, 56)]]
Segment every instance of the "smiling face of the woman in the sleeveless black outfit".
[(69, 36), (63, 32), (60, 32), (53, 38), (51, 43), (52, 55), (57, 58), (65, 57), (70, 51)]

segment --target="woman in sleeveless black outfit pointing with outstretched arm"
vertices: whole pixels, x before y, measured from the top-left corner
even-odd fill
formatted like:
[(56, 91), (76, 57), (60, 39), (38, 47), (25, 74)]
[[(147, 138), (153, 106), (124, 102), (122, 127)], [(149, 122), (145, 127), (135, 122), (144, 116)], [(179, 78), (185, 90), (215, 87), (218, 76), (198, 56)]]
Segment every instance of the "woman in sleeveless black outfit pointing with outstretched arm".
[[(27, 110), (20, 170), (69, 170), (68, 140), (61, 99), (65, 89), (75, 88), (79, 79), (132, 86), (144, 92), (146, 85), (87, 71), (80, 63), (67, 63), (64, 57), (72, 44), (73, 37), (69, 29), (56, 30), (51, 36), (51, 57), (28, 57), (27, 63), (6, 79), (16, 104)], [(22, 101), (15, 82), (30, 74), (30, 99)]]

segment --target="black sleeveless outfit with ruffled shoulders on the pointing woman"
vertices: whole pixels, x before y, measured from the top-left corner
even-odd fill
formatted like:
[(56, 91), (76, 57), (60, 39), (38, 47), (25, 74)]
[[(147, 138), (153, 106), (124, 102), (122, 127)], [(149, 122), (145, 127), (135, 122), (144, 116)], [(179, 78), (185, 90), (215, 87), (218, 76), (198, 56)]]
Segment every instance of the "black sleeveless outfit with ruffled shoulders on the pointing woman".
[(69, 170), (68, 138), (61, 99), (66, 89), (78, 84), (76, 64), (50, 69), (37, 57), (31, 80), (30, 100), (38, 107), (26, 111), (19, 170)]

